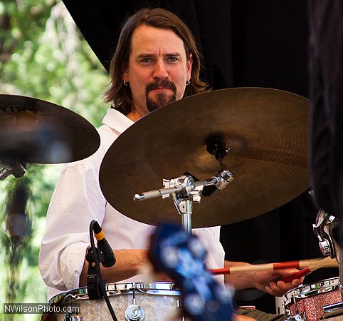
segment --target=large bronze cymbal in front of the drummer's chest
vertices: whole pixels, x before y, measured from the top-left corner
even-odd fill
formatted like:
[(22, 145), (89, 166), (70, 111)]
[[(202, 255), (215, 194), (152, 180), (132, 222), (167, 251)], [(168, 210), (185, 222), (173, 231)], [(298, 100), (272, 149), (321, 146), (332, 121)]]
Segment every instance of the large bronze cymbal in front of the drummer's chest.
[(310, 102), (268, 88), (230, 88), (176, 101), (144, 116), (117, 138), (100, 168), (100, 186), (120, 213), (143, 223), (178, 220), (171, 198), (134, 202), (135, 193), (163, 188), (162, 178), (189, 172), (200, 180), (219, 169), (206, 141), (222, 137), (235, 179), (194, 203), (192, 227), (253, 218), (287, 203), (308, 186)]

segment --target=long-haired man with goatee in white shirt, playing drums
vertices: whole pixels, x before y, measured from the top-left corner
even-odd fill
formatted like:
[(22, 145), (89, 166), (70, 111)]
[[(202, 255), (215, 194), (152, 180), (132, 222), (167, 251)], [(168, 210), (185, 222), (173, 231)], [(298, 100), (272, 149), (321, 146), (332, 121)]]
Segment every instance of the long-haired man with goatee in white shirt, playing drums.
[[(100, 148), (90, 158), (65, 165), (48, 210), (39, 264), (49, 297), (86, 285), (91, 220), (102, 225), (117, 258), (113, 267), (102, 267), (103, 278), (107, 282), (144, 280), (137, 272), (147, 261), (148, 235), (153, 227), (127, 218), (107, 203), (98, 181), (101, 161), (112, 142), (134, 121), (166, 103), (204, 91), (206, 84), (200, 81), (199, 70), (199, 52), (191, 32), (169, 11), (142, 9), (123, 26), (110, 66), (111, 86), (105, 93), (105, 101), (115, 107), (99, 128)], [(220, 227), (193, 232), (209, 250), (206, 265), (223, 267)], [(225, 281), (236, 289), (257, 287), (271, 295), (283, 295), (302, 280), (287, 284), (273, 280), (294, 272), (246, 272), (227, 275)], [(223, 281), (223, 276), (220, 278)]]

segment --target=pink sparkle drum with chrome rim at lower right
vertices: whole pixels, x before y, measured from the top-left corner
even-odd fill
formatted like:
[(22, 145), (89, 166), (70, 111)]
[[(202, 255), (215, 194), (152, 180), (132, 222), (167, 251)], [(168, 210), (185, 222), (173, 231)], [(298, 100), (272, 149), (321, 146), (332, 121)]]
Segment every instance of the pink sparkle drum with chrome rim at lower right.
[(339, 277), (302, 285), (285, 294), (283, 305), (286, 320), (321, 320), (324, 317), (324, 306), (341, 301)]

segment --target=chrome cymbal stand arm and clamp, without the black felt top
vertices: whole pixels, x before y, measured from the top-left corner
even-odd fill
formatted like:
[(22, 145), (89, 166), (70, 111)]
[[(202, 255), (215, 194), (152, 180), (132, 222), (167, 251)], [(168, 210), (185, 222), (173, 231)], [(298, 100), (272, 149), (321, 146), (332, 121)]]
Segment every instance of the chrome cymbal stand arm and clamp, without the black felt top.
[(150, 190), (142, 194), (135, 194), (134, 200), (147, 200), (148, 198), (173, 198), (176, 210), (182, 217), (182, 227), (191, 233), (191, 214), (193, 213), (193, 202), (200, 203), (201, 192), (204, 186), (214, 185), (219, 190), (231, 183), (233, 175), (228, 170), (220, 170), (216, 176), (208, 180), (194, 181), (191, 175), (182, 175), (178, 178), (163, 180), (164, 188), (160, 190)]

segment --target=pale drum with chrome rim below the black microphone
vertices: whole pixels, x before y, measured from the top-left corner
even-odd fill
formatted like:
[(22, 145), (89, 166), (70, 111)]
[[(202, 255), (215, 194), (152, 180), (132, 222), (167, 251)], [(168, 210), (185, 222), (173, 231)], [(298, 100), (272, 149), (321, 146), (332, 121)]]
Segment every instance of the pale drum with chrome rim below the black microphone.
[[(182, 320), (180, 292), (173, 283), (111, 283), (106, 292), (118, 321)], [(87, 287), (60, 293), (49, 303), (58, 301), (58, 310), (70, 307), (69, 312), (56, 315), (58, 321), (112, 320), (105, 300), (89, 300)]]

